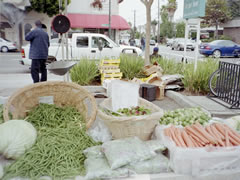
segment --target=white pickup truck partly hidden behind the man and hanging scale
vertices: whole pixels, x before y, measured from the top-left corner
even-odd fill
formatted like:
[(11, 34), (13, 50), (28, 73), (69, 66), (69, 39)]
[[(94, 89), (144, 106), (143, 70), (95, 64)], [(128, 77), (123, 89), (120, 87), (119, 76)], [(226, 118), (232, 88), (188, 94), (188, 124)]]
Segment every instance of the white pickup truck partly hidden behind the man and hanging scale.
[[(31, 60), (28, 57), (29, 49), (29, 44), (22, 47), (22, 59), (20, 63), (23, 65), (31, 65)], [(73, 33), (72, 39), (69, 39), (68, 50), (68, 57), (73, 60), (80, 60), (82, 57), (92, 60), (119, 58), (122, 53), (142, 54), (142, 50), (138, 47), (118, 45), (106, 35), (97, 33)], [(51, 40), (48, 54), (54, 60), (59, 61), (63, 59), (62, 46), (59, 45), (57, 39)], [(66, 51), (64, 54), (66, 54)]]

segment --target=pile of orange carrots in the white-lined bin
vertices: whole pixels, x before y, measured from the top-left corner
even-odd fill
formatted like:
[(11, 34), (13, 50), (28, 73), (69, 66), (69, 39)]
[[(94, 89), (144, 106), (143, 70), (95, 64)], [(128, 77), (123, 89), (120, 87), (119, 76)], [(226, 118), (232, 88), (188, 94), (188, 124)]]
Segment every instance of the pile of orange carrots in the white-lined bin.
[(176, 128), (172, 125), (164, 129), (164, 135), (172, 139), (177, 146), (184, 148), (240, 145), (240, 134), (226, 124), (220, 123), (203, 127), (196, 122), (184, 128)]

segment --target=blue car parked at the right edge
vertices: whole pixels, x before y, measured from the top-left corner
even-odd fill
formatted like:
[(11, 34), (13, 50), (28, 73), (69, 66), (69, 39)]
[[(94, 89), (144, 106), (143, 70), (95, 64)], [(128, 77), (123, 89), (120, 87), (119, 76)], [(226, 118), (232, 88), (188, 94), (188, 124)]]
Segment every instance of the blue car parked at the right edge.
[(212, 55), (215, 58), (223, 56), (240, 57), (240, 45), (230, 40), (215, 40), (201, 44), (199, 53), (205, 56)]

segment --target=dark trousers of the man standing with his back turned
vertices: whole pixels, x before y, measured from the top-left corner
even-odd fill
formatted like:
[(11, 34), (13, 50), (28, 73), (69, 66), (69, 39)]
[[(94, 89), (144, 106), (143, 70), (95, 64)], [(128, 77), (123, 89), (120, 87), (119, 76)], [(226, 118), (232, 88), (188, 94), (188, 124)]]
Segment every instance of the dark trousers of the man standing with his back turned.
[(39, 82), (39, 73), (41, 73), (40, 81), (47, 81), (46, 59), (32, 59), (31, 75), (34, 83)]

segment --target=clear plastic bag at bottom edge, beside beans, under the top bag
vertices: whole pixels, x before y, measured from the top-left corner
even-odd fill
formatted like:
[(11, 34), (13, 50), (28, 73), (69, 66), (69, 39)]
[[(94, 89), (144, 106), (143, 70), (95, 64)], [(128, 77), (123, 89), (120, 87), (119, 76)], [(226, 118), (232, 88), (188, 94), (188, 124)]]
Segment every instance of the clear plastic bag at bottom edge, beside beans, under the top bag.
[(104, 156), (97, 158), (89, 157), (85, 160), (84, 165), (86, 168), (86, 180), (129, 176), (129, 170), (127, 168), (112, 170)]

